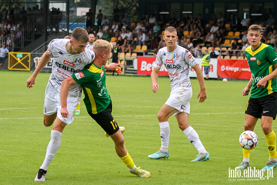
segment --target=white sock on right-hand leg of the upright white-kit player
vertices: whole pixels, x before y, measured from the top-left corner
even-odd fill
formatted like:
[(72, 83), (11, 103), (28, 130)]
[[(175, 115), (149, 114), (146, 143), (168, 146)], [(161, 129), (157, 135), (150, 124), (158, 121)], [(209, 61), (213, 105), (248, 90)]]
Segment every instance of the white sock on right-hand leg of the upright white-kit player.
[(199, 139), (197, 132), (195, 132), (195, 130), (191, 126), (185, 129), (183, 133), (187, 136), (188, 140), (198, 150), (199, 153), (207, 153), (205, 147), (202, 145)]

